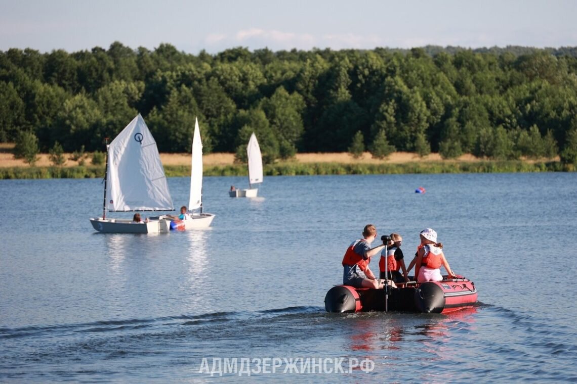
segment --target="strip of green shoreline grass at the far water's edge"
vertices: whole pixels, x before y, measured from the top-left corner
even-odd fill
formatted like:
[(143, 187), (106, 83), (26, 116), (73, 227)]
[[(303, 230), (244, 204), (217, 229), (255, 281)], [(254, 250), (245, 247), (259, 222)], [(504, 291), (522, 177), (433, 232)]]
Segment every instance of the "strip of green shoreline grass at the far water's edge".
[[(167, 177), (188, 177), (190, 166), (166, 165)], [(529, 163), (514, 161), (477, 162), (407, 162), (402, 164), (345, 164), (318, 162), (299, 164), (279, 162), (265, 165), (265, 176), (315, 176), (342, 174), (419, 174), (419, 173), (516, 173), (516, 172), (574, 172), (572, 165), (558, 161)], [(247, 176), (245, 164), (212, 165), (204, 167), (204, 176)], [(0, 179), (38, 178), (103, 178), (104, 165), (99, 166), (29, 166), (0, 168)]]

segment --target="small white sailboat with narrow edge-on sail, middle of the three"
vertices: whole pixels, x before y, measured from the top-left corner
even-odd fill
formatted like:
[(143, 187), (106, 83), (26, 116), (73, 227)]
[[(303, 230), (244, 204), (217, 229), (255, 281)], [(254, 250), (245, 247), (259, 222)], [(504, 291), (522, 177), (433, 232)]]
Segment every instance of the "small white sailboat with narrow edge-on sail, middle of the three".
[[(192, 212), (200, 208), (200, 214)], [(189, 218), (179, 220), (184, 229), (206, 228), (212, 223), (215, 215), (203, 213), (203, 143), (200, 139), (198, 119), (194, 122), (192, 136), (192, 159), (190, 169), (190, 196), (188, 201)], [(179, 223), (180, 224), (180, 223)]]

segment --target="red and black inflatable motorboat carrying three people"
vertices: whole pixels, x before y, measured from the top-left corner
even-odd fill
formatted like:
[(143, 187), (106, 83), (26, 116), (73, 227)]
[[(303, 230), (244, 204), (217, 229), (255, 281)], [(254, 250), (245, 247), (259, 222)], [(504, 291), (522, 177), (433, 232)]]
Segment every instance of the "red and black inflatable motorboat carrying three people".
[(396, 283), (396, 288), (332, 287), (325, 296), (327, 312), (404, 311), (449, 313), (477, 305), (475, 283), (463, 276), (440, 282)]

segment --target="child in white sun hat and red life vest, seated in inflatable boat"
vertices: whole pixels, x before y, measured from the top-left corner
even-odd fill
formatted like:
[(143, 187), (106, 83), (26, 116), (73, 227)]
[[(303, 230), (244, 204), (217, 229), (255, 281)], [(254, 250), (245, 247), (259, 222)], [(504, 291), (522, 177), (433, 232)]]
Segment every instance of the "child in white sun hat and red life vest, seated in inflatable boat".
[(415, 260), (417, 282), (440, 282), (443, 280), (441, 265), (447, 270), (448, 277), (456, 277), (443, 253), (443, 244), (437, 242), (437, 233), (427, 228), (421, 231), (419, 237), (421, 237), (421, 245), (417, 248)]

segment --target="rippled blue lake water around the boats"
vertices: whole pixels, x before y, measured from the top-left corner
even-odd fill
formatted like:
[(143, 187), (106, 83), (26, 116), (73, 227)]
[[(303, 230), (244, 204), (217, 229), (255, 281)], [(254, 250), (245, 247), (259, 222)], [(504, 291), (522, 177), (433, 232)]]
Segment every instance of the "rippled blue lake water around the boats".
[[(188, 178), (168, 184), (186, 204)], [(232, 184), (205, 178), (211, 229), (130, 235), (92, 229), (101, 180), (0, 180), (0, 381), (577, 381), (576, 173)], [(435, 229), (479, 306), (325, 313), (367, 223), (409, 257)]]

